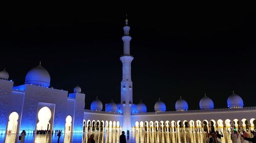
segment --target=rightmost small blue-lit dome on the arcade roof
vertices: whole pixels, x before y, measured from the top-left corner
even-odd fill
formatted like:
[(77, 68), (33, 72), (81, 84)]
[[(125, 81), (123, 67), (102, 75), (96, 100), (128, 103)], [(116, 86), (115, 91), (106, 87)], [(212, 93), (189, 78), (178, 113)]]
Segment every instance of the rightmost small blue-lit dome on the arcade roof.
[(227, 106), (228, 108), (243, 108), (244, 101), (239, 95), (233, 93), (227, 99)]

